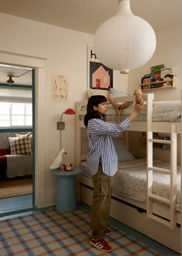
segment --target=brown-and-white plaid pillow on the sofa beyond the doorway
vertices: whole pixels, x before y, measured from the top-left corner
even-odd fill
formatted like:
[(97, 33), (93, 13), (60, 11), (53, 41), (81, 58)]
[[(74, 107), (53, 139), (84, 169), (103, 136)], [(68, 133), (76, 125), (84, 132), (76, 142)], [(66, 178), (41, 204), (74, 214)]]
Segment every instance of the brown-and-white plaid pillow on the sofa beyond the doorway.
[(8, 138), (11, 155), (32, 155), (30, 135)]

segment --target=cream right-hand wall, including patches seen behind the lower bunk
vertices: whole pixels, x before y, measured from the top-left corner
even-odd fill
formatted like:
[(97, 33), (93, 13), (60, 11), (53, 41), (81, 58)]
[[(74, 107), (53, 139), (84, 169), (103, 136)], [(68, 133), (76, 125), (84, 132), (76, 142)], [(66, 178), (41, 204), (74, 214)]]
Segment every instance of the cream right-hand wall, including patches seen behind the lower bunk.
[[(175, 67), (175, 89), (163, 89), (152, 90), (154, 94), (154, 101), (180, 101), (180, 90), (182, 89), (182, 25), (172, 26), (163, 31), (157, 32), (157, 49), (153, 54), (151, 60), (136, 70), (132, 70), (129, 73), (128, 87), (129, 93), (133, 94), (133, 91), (139, 87), (141, 83), (141, 77), (144, 74), (150, 73), (150, 67), (164, 64), (167, 66)], [(147, 91), (150, 93), (150, 91)], [(137, 158), (146, 156), (146, 148), (139, 150), (141, 132), (135, 132), (130, 134), (130, 151), (133, 152)], [(180, 135), (177, 145), (177, 162), (180, 164)], [(170, 161), (170, 151), (157, 148), (153, 152), (153, 157), (161, 160), (168, 159)]]

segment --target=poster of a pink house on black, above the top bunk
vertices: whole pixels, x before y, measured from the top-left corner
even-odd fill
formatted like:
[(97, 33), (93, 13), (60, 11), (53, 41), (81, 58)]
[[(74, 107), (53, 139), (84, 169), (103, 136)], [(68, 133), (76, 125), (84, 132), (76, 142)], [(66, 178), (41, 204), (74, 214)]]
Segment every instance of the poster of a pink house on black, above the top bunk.
[(88, 46), (87, 60), (88, 89), (113, 88), (113, 70), (99, 62), (91, 46)]

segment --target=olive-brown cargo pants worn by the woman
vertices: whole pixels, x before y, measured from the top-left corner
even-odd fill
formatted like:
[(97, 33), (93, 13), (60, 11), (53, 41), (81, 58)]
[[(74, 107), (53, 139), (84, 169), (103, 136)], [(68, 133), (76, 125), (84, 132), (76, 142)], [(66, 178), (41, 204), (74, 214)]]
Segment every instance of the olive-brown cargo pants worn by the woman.
[(112, 177), (103, 173), (99, 163), (98, 172), (93, 175), (93, 207), (91, 212), (90, 229), (92, 237), (104, 239), (110, 218)]

